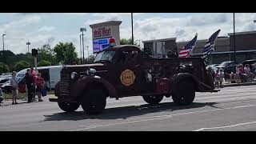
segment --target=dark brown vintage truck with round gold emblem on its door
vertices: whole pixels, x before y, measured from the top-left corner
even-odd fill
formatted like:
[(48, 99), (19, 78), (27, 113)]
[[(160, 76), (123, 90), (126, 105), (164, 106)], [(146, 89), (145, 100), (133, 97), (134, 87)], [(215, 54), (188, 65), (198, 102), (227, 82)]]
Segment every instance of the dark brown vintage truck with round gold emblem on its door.
[(106, 98), (142, 96), (149, 104), (172, 97), (190, 105), (195, 92), (217, 92), (202, 58), (151, 58), (138, 46), (110, 46), (93, 64), (63, 66), (55, 86), (58, 106), (73, 112), (81, 105), (87, 114), (99, 114)]

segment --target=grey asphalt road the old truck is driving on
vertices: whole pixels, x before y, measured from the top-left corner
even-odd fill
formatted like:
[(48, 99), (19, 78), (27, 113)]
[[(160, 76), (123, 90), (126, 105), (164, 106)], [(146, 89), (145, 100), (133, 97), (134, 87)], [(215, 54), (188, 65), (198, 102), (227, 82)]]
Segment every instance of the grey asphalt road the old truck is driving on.
[(218, 93), (197, 93), (191, 106), (176, 106), (164, 98), (157, 106), (141, 97), (108, 99), (106, 110), (86, 115), (80, 107), (63, 113), (57, 103), (22, 103), (0, 106), (0, 130), (256, 130), (256, 86), (226, 87)]

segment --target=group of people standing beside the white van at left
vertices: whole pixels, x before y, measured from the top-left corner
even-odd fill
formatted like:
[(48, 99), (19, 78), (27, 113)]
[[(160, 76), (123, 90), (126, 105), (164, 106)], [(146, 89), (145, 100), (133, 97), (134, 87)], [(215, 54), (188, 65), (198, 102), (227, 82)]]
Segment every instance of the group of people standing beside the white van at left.
[[(26, 70), (26, 93), (27, 101), (34, 102), (35, 96), (38, 96), (38, 102), (42, 102), (42, 88), (45, 84), (44, 79), (41, 77), (41, 74), (36, 74), (36, 71), (33, 67)], [(18, 104), (18, 78), (16, 77), (16, 72), (12, 72), (12, 78), (10, 79), (10, 86), (12, 91), (12, 104)]]

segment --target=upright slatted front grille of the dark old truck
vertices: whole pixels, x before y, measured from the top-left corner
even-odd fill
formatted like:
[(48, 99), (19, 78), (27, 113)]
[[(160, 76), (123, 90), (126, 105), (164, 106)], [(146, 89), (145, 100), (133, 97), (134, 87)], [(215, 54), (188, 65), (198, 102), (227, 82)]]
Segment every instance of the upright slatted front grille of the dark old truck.
[(60, 95), (69, 96), (70, 94), (70, 74), (61, 74)]

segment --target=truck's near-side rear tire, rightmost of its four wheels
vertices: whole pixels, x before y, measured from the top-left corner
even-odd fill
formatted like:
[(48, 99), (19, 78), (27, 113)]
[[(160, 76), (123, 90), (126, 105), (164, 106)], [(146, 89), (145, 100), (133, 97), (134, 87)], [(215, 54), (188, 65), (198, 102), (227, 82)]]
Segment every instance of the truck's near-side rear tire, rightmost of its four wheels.
[(194, 82), (192, 80), (184, 79), (181, 82), (178, 82), (178, 86), (176, 88), (176, 93), (172, 94), (174, 103), (186, 106), (190, 105), (194, 101), (195, 90)]

